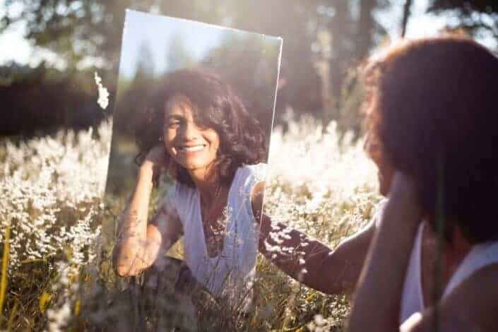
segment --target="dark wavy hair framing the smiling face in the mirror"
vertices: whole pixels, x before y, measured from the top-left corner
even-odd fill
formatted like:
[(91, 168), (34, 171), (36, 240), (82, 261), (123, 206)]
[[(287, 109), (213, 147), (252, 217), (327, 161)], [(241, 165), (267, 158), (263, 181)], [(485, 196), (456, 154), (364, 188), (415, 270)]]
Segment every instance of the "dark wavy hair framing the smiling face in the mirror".
[[(206, 69), (181, 69), (165, 76), (143, 110), (143, 121), (134, 129), (139, 149), (135, 158), (138, 165), (162, 138), (165, 105), (178, 96), (186, 97), (198, 126), (214, 129), (218, 133), (220, 148), (216, 170), (222, 182), (230, 184), (241, 165), (254, 165), (266, 160), (268, 149), (263, 131), (235, 90)], [(189, 173), (172, 158), (165, 167), (177, 182), (194, 187)]]

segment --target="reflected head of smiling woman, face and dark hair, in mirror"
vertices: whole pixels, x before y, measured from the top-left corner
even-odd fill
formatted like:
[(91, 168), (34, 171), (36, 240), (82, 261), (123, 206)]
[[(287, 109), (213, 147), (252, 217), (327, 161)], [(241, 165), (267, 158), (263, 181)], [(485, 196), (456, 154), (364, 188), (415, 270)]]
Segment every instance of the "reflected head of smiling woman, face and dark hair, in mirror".
[(136, 127), (138, 159), (163, 141), (169, 156), (165, 166), (183, 184), (194, 186), (189, 170), (208, 165), (222, 182), (230, 183), (237, 167), (266, 157), (256, 119), (230, 85), (206, 70), (168, 74), (145, 115)]

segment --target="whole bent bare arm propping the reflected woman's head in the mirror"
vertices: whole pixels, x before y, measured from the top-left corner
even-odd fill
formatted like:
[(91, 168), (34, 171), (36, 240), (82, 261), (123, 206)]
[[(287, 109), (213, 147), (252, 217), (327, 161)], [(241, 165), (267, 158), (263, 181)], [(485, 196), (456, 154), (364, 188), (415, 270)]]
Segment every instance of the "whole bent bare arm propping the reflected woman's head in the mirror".
[(160, 251), (166, 251), (181, 235), (182, 227), (177, 218), (170, 218), (161, 207), (147, 223), (153, 176), (163, 152), (153, 148), (138, 171), (134, 193), (119, 221), (119, 234), (114, 248), (117, 273), (121, 276), (137, 275), (152, 265)]

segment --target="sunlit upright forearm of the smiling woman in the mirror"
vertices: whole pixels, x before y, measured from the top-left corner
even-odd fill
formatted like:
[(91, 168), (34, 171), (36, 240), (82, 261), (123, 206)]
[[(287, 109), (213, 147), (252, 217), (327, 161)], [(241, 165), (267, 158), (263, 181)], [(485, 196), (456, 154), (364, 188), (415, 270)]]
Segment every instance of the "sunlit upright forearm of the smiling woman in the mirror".
[(119, 221), (116, 266), (119, 275), (136, 275), (148, 264), (147, 219), (153, 170), (143, 165), (138, 171), (134, 193)]

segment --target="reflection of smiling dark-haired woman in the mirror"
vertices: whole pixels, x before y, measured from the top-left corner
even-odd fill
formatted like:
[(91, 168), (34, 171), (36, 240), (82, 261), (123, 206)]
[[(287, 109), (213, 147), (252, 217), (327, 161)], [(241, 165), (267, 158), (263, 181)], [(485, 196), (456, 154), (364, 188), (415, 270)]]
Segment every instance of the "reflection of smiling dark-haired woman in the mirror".
[[(146, 115), (136, 131), (140, 168), (119, 226), (117, 272), (174, 270), (164, 253), (183, 235), (186, 266), (175, 271), (177, 287), (237, 298), (255, 273), (263, 131), (235, 91), (201, 69), (170, 73)], [(163, 170), (175, 181), (148, 222)]]

